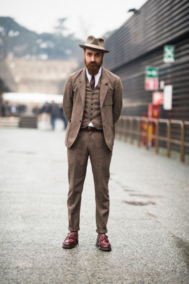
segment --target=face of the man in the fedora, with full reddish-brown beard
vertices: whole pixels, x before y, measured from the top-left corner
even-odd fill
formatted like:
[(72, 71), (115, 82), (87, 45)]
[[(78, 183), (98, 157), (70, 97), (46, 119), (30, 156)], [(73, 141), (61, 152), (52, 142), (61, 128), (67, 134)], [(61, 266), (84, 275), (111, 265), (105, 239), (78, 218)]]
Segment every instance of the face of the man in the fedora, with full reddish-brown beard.
[(85, 57), (85, 66), (89, 74), (97, 75), (103, 62), (102, 58), (104, 53), (98, 50), (86, 49), (83, 55)]

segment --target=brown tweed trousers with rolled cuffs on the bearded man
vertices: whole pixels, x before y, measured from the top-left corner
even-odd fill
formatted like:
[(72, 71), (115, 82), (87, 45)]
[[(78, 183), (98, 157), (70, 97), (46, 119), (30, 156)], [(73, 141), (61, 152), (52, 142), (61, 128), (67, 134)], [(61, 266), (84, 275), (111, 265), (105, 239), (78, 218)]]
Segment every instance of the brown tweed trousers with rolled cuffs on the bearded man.
[(69, 231), (79, 231), (81, 194), (88, 158), (95, 184), (97, 233), (107, 233), (109, 215), (108, 181), (112, 151), (101, 131), (80, 130), (74, 144), (67, 148), (69, 192), (67, 199)]

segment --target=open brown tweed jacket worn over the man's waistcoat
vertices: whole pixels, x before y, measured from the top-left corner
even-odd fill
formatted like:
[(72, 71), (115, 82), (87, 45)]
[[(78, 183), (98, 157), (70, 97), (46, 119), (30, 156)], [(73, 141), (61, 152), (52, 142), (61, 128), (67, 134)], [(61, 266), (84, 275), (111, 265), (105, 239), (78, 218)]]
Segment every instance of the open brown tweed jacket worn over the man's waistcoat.
[[(86, 93), (86, 67), (68, 76), (63, 95), (63, 110), (68, 121), (65, 145), (70, 148), (79, 132)], [(115, 123), (120, 117), (123, 86), (120, 77), (102, 67), (100, 85), (100, 109), (104, 137), (110, 151), (113, 150)]]

